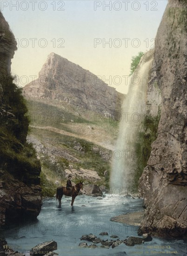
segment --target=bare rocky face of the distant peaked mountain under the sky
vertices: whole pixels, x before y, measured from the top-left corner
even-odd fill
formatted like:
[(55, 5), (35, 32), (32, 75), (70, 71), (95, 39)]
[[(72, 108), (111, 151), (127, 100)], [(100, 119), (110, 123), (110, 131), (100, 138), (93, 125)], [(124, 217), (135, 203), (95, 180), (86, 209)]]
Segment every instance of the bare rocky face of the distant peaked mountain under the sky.
[(54, 53), (48, 55), (39, 79), (24, 87), (24, 94), (67, 101), (73, 106), (111, 115), (120, 112), (124, 97), (96, 75)]

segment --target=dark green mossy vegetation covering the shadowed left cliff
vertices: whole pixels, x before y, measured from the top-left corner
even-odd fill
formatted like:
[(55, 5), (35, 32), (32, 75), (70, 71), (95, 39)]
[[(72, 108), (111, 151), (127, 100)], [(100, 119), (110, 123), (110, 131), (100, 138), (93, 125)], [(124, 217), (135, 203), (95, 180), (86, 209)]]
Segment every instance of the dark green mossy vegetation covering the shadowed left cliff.
[(0, 166), (26, 184), (40, 183), (40, 161), (26, 141), (29, 119), (27, 106), (13, 77), (2, 67), (0, 84), (3, 89), (0, 106)]

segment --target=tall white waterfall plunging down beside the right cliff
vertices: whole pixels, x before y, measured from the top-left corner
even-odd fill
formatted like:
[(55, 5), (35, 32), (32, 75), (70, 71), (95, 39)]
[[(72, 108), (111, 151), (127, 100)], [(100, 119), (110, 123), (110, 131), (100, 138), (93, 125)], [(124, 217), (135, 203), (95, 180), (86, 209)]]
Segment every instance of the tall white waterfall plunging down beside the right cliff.
[[(130, 77), (127, 97), (122, 104), (119, 135), (112, 159), (110, 188), (113, 194), (129, 194), (136, 172), (137, 133), (146, 115), (147, 80), (152, 67), (153, 51), (144, 54)], [(115, 192), (114, 192), (115, 191)]]

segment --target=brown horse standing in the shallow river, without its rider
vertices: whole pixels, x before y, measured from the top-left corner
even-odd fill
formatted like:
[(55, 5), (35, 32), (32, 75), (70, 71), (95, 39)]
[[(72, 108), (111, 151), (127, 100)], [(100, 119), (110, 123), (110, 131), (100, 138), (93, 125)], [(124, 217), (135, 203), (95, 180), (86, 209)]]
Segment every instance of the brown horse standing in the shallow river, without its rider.
[(59, 200), (59, 206), (61, 205), (61, 199), (63, 195), (72, 196), (72, 203), (71, 206), (73, 206), (73, 202), (75, 200), (75, 197), (79, 194), (80, 189), (83, 188), (83, 182), (77, 183), (75, 186), (72, 187), (72, 195), (70, 194), (70, 190), (66, 187), (58, 187), (56, 189), (56, 199)]

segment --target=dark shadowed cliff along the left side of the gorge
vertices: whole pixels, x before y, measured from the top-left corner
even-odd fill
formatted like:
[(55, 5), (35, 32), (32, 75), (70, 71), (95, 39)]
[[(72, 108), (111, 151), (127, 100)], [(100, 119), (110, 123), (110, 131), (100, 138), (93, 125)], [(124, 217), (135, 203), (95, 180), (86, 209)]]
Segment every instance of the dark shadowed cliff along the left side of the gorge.
[(0, 225), (35, 218), (41, 209), (40, 162), (26, 142), (27, 107), (10, 74), (16, 49), (0, 13)]

